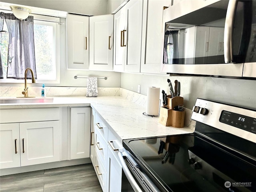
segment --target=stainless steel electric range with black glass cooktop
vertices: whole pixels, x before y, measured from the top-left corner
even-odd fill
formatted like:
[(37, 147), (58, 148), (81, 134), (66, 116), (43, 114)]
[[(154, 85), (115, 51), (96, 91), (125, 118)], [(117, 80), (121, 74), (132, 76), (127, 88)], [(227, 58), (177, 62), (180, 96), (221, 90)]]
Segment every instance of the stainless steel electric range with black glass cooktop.
[(192, 134), (123, 141), (134, 191), (255, 192), (256, 110), (197, 99), (191, 118)]

